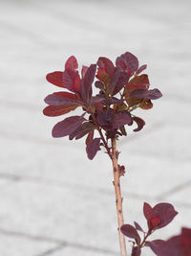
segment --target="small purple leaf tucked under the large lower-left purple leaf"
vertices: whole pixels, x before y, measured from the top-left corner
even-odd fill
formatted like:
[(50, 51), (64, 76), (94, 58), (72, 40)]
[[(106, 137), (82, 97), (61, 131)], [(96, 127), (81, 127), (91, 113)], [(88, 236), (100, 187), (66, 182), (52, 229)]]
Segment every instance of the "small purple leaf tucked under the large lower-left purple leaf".
[(96, 127), (90, 122), (83, 123), (80, 127), (76, 128), (74, 132), (72, 132), (69, 136), (69, 139), (72, 140), (75, 138), (75, 140), (82, 138), (87, 133), (89, 133), (91, 130), (94, 130)]

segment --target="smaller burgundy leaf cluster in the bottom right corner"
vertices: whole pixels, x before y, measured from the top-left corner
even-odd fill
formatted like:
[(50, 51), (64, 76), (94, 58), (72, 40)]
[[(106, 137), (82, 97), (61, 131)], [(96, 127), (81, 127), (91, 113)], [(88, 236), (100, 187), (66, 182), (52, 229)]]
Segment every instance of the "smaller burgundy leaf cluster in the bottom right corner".
[[(153, 252), (155, 252), (159, 256), (183, 256), (184, 254), (181, 253), (174, 254), (175, 249), (173, 248), (173, 244), (175, 247), (177, 247), (177, 237), (172, 238), (166, 242), (162, 240), (147, 241), (147, 238), (155, 230), (164, 227), (165, 225), (173, 221), (175, 216), (178, 214), (178, 212), (175, 211), (173, 205), (170, 203), (161, 202), (152, 207), (149, 203), (145, 202), (143, 205), (143, 214), (147, 220), (147, 232), (143, 231), (141, 226), (136, 221), (134, 221), (135, 227), (130, 224), (124, 224), (120, 228), (121, 232), (125, 236), (134, 239), (131, 255), (140, 255), (141, 248), (143, 246), (149, 246), (153, 250)], [(138, 234), (138, 231), (144, 234), (142, 241)], [(186, 232), (182, 232), (182, 234), (184, 234), (184, 236), (182, 235), (179, 241), (183, 241), (183, 243), (179, 244), (179, 251), (180, 249), (182, 249), (182, 246), (184, 250), (189, 251), (188, 248), (189, 246), (191, 246), (191, 232), (186, 230)], [(189, 254), (185, 255), (188, 256)]]

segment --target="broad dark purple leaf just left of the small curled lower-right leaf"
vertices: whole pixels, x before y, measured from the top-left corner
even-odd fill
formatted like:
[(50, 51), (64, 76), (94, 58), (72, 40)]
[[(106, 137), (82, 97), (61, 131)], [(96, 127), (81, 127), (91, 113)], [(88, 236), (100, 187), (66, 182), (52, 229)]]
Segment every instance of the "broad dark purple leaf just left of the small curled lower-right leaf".
[(131, 126), (132, 124), (133, 120), (128, 111), (123, 111), (114, 115), (113, 128), (120, 128), (124, 125)]

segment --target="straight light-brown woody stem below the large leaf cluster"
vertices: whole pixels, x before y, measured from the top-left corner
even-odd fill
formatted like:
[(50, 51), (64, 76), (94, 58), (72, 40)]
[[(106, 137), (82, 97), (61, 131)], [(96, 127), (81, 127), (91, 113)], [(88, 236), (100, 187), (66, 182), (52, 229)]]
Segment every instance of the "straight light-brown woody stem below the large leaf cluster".
[(112, 163), (114, 170), (114, 186), (116, 194), (116, 204), (117, 204), (117, 222), (118, 222), (118, 238), (120, 246), (120, 255), (127, 256), (125, 237), (120, 231), (120, 227), (124, 224), (123, 212), (122, 212), (122, 198), (120, 192), (120, 174), (117, 163), (117, 141), (112, 139)]

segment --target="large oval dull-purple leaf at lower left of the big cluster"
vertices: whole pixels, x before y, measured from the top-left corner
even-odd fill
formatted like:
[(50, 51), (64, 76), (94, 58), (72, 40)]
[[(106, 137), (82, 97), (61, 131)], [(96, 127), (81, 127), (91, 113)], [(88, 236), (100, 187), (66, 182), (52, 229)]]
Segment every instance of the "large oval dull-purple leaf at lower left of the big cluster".
[(81, 116), (71, 116), (64, 119), (53, 127), (53, 137), (59, 138), (70, 135), (76, 128), (78, 128), (83, 123), (84, 120), (85, 118)]

